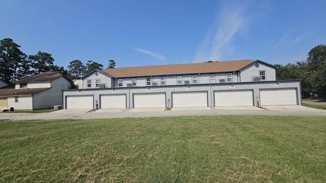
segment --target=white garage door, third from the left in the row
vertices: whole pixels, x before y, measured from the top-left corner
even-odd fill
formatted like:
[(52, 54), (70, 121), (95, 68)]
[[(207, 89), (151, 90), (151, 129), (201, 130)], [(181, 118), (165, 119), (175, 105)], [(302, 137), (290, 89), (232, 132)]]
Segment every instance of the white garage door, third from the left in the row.
[(134, 108), (154, 108), (166, 107), (165, 94), (134, 94), (133, 95)]

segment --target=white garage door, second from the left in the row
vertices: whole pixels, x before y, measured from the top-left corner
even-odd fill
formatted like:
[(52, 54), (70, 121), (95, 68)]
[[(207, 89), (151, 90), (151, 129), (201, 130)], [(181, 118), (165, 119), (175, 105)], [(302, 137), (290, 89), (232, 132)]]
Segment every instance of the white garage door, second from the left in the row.
[(101, 109), (126, 108), (126, 95), (101, 96)]

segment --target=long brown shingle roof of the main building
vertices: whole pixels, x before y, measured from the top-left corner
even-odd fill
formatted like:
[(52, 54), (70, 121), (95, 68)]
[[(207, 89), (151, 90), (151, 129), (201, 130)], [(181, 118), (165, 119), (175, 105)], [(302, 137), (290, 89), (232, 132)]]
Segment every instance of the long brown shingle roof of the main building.
[(237, 71), (254, 62), (252, 59), (231, 60), (213, 63), (176, 64), (163, 66), (144, 66), (104, 69), (102, 72), (115, 78), (140, 76), (165, 76), (196, 73), (219, 73)]

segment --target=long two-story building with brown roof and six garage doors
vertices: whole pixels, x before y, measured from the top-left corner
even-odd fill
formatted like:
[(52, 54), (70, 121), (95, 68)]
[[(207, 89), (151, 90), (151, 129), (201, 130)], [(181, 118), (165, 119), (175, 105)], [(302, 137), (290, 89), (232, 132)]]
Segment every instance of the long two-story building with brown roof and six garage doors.
[(65, 108), (301, 105), (300, 80), (261, 60), (104, 69), (64, 91)]

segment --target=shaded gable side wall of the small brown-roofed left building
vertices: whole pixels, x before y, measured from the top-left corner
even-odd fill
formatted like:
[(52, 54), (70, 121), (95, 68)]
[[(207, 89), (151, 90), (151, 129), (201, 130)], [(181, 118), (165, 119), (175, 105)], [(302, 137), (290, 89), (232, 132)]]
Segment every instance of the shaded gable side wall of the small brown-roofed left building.
[(53, 108), (62, 105), (62, 90), (70, 87), (70, 82), (64, 77), (52, 80), (52, 87), (33, 96), (33, 109)]

